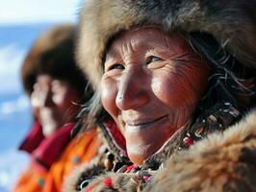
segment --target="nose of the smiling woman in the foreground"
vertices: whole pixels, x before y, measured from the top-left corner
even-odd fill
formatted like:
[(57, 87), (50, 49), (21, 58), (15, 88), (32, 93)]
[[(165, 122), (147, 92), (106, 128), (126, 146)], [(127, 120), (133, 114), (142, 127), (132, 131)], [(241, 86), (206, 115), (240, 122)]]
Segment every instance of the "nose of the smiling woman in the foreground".
[(149, 101), (148, 83), (142, 73), (129, 71), (123, 74), (118, 84), (115, 98), (117, 108), (122, 110), (136, 109)]

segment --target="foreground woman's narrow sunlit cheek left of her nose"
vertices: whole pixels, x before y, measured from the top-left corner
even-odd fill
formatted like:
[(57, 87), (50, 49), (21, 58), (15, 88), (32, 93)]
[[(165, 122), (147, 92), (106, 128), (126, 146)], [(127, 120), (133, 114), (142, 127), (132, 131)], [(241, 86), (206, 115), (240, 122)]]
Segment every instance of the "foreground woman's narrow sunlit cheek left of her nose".
[(115, 105), (117, 89), (117, 84), (114, 80), (101, 81), (100, 94), (102, 105), (114, 119), (116, 119), (118, 115), (118, 108)]

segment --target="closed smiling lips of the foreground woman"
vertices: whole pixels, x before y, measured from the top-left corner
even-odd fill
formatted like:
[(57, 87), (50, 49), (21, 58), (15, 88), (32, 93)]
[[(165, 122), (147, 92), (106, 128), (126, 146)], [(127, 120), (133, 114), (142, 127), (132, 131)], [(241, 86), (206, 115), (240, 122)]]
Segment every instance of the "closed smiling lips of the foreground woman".
[(154, 126), (162, 124), (166, 122), (167, 115), (161, 116), (157, 119), (154, 119), (152, 121), (144, 121), (144, 120), (136, 120), (136, 121), (126, 121), (125, 130), (126, 131), (142, 131), (150, 128), (151, 126)]

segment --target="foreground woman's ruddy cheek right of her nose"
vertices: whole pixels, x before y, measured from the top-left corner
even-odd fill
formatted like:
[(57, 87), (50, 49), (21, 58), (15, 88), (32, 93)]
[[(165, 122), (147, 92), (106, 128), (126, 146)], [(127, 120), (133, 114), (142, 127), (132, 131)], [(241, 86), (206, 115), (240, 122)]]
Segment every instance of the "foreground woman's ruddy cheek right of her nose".
[(178, 67), (156, 74), (152, 81), (155, 95), (170, 108), (187, 108), (196, 104), (205, 91), (209, 70), (201, 67)]

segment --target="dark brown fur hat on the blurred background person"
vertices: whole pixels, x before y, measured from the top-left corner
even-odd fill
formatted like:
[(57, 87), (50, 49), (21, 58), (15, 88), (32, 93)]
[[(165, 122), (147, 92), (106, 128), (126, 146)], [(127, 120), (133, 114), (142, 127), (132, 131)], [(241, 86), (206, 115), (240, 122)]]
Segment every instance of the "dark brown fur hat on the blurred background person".
[(74, 42), (76, 26), (62, 24), (54, 26), (38, 36), (21, 66), (23, 86), (30, 96), (40, 74), (65, 80), (81, 95), (88, 84), (81, 70), (76, 66)]

